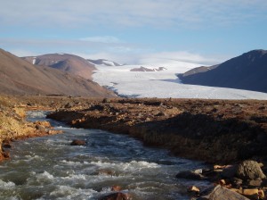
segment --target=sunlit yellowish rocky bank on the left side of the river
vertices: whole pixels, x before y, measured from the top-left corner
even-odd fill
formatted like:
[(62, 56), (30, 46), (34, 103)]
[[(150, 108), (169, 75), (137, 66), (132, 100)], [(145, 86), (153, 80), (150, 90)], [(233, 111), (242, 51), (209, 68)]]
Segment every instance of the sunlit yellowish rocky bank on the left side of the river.
[[(82, 100), (81, 100), (82, 99)], [(68, 107), (75, 101), (90, 102), (91, 98), (71, 96), (0, 96), (0, 162), (9, 159), (8, 149), (12, 141), (28, 137), (43, 137), (58, 134), (49, 123), (29, 122), (26, 112), (30, 110), (54, 111)]]

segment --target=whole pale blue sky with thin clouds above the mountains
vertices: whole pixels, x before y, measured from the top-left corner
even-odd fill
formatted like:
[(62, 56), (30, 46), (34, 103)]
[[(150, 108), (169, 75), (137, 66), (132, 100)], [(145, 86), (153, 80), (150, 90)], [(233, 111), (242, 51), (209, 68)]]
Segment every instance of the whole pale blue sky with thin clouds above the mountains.
[(222, 63), (267, 49), (266, 0), (0, 0), (0, 48), (117, 63)]

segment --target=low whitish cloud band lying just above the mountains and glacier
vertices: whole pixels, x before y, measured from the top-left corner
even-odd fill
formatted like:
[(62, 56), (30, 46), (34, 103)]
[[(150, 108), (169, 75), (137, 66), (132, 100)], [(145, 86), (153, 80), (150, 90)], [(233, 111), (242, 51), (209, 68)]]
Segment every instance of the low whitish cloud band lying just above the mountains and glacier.
[[(91, 40), (91, 39), (88, 39)], [(94, 40), (94, 39), (93, 39)], [(153, 49), (127, 43), (103, 43), (103, 41), (77, 40), (39, 40), (39, 39), (6, 39), (0, 38), (4, 50), (18, 56), (68, 53), (77, 54), (88, 59), (108, 59), (117, 63), (145, 64), (182, 61), (189, 63), (214, 64), (229, 58), (222, 55), (202, 55), (188, 51), (165, 51), (154, 53)], [(9, 47), (6, 47), (9, 46)], [(27, 47), (25, 47), (27, 46)]]

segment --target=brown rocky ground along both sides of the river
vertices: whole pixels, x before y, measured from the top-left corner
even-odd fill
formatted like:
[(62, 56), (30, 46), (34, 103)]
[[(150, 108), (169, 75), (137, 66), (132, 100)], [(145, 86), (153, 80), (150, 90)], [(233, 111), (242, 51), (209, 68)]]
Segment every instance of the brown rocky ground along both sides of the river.
[[(25, 109), (53, 109), (56, 112), (48, 117), (73, 127), (128, 134), (145, 145), (164, 147), (175, 155), (216, 164), (212, 169), (182, 171), (176, 176), (208, 179), (218, 184), (208, 197), (205, 191), (190, 188), (193, 196), (202, 196), (199, 199), (264, 198), (266, 101), (8, 96), (1, 100), (2, 158), (8, 157), (6, 147), (10, 140), (54, 134), (48, 124), (25, 121)], [(218, 197), (222, 194), (225, 198)], [(227, 194), (231, 197), (226, 198)]]

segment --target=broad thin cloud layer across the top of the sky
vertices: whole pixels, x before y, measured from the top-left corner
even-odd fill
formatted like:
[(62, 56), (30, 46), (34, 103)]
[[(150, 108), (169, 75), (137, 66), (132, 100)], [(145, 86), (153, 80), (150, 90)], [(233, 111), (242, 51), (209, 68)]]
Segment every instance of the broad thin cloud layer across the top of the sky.
[(266, 0), (9, 0), (1, 4), (0, 22), (35, 28), (176, 26), (179, 29), (266, 18), (266, 9)]

